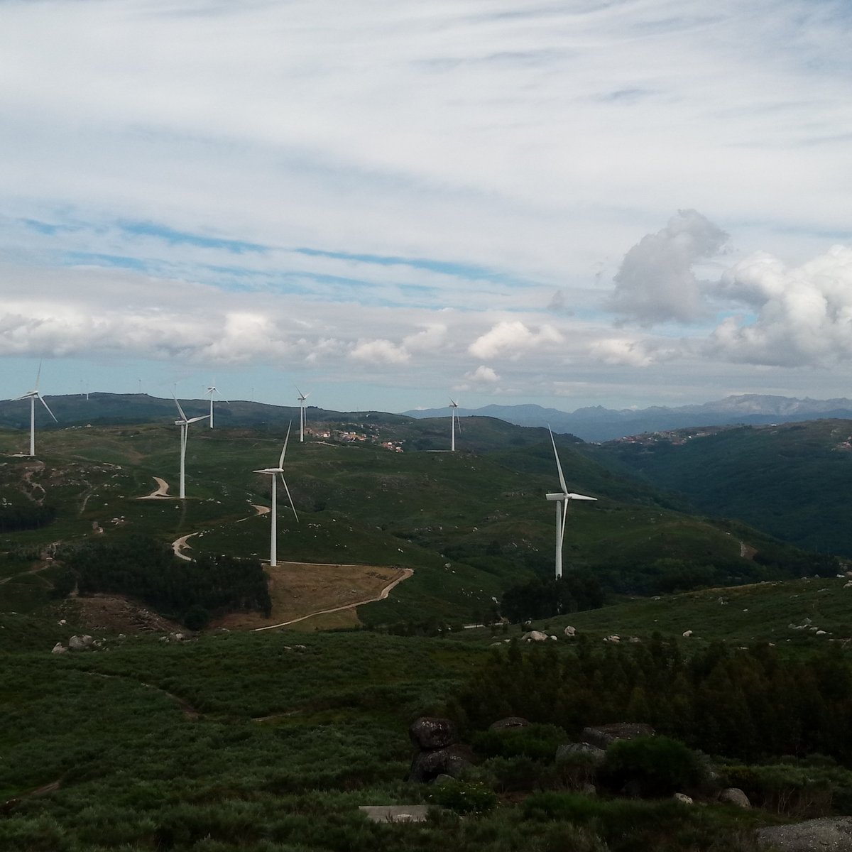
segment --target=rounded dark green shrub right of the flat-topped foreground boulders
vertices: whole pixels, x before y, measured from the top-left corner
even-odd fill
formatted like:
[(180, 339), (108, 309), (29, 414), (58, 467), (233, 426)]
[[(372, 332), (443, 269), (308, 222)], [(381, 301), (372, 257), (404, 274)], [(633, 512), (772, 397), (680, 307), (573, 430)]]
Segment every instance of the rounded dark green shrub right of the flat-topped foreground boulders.
[(645, 796), (667, 796), (697, 786), (702, 777), (699, 757), (680, 740), (636, 737), (607, 749), (602, 779), (621, 788), (632, 782)]

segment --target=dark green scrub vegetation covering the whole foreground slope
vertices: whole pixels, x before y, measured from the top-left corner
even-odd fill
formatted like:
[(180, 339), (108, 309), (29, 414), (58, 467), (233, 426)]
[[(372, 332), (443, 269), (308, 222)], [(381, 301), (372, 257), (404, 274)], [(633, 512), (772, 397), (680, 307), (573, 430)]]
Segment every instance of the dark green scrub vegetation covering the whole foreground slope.
[[(15, 618), (3, 615), (3, 626)], [(837, 652), (788, 660), (767, 648), (714, 647), (688, 660), (661, 640), (605, 653), (584, 642), (495, 653), (484, 642), (370, 631), (296, 636), (129, 638), (99, 653), (2, 653), (0, 848), (746, 852), (758, 848), (754, 826), (852, 801), (852, 774), (843, 769), (849, 738), (832, 716), (848, 707), (848, 660)], [(807, 700), (794, 698), (799, 678)], [(656, 702), (636, 698), (640, 680), (648, 692), (684, 689), (671, 694), (665, 719), (648, 706)], [(816, 714), (815, 739), (803, 733), (801, 714), (785, 726), (786, 712), (761, 710), (773, 696)], [(656, 798), (618, 795), (612, 779), (647, 763), (636, 749), (612, 764), (610, 780), (597, 780), (597, 797), (577, 792), (589, 775), (555, 763), (556, 746), (584, 724), (622, 717), (625, 699), (635, 721), (658, 721), (690, 746), (727, 757), (717, 762), (722, 781), (768, 810), (666, 800), (672, 784), (696, 792), (704, 763), (683, 764), (693, 752), (665, 738), (654, 746), (654, 766), (668, 779), (653, 788)], [(728, 747), (728, 728), (702, 717), (699, 708), (717, 701), (753, 744)], [(558, 724), (495, 740), (485, 728), (507, 710)], [(408, 724), (446, 711), (463, 723), (479, 765), (443, 789), (406, 783)], [(820, 740), (828, 731), (838, 739)], [(823, 757), (779, 762), (791, 745)], [(758, 752), (760, 763), (742, 759)], [(57, 789), (28, 795), (53, 782)], [(421, 825), (373, 824), (358, 810), (387, 803), (447, 810)]]

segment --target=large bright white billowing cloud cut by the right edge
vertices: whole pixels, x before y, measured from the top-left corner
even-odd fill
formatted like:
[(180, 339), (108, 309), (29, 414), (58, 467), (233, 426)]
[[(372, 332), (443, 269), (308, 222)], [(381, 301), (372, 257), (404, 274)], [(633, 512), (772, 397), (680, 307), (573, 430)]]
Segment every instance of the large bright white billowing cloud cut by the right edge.
[(797, 268), (756, 254), (718, 292), (750, 313), (722, 321), (705, 354), (769, 366), (830, 366), (852, 357), (852, 249), (837, 245)]

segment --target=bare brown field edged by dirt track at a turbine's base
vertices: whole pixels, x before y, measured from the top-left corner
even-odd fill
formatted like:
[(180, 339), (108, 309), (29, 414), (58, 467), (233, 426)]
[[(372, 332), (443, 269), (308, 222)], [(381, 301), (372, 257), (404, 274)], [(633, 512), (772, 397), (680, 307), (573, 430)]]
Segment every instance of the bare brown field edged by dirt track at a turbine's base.
[(292, 626), (299, 630), (351, 627), (360, 623), (354, 607), (381, 598), (390, 584), (411, 576), (409, 569), (397, 567), (310, 562), (282, 562), (267, 571), (271, 616), (230, 613), (212, 626), (257, 630), (302, 619)]

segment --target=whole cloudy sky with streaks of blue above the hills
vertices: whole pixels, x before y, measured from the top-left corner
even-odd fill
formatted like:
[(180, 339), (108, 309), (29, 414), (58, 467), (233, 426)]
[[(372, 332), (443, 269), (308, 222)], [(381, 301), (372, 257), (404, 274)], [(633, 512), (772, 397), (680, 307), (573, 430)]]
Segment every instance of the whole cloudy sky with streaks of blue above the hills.
[(848, 0), (0, 0), (0, 397), (852, 396)]

